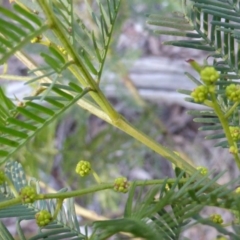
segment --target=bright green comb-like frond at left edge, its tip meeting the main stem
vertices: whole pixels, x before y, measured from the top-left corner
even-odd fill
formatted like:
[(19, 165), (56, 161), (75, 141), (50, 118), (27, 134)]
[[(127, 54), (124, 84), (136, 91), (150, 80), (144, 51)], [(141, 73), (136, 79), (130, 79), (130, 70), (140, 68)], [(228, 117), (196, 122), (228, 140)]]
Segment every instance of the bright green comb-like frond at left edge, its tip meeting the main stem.
[[(40, 93), (49, 85), (42, 84)], [(27, 97), (25, 103), (20, 103), (14, 108), (13, 103), (11, 103), (8, 115), (6, 115), (0, 125), (1, 164), (9, 159), (12, 154), (46, 124), (49, 124), (63, 111), (72, 106), (88, 91), (89, 89), (82, 90), (81, 87), (73, 82), (69, 82), (68, 85), (55, 84), (42, 102), (39, 102), (42, 96), (36, 94), (36, 96)], [(9, 102), (10, 100), (6, 101)]]

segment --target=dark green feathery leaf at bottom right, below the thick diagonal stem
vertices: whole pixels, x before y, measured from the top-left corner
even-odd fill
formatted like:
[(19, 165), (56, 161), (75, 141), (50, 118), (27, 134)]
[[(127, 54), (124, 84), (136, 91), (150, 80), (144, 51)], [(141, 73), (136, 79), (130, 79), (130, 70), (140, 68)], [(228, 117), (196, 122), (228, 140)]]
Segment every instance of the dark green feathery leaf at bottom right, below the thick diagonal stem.
[[(184, 230), (203, 222), (199, 212), (205, 206), (228, 205), (239, 211), (240, 196), (232, 200), (229, 198), (232, 192), (230, 186), (239, 182), (239, 178), (223, 186), (216, 186), (215, 182), (224, 173), (208, 181), (212, 173), (199, 177), (199, 172), (196, 172), (183, 183), (181, 181), (184, 174), (181, 172), (172, 184), (167, 184), (166, 179), (163, 184), (152, 188), (148, 193), (142, 189), (138, 197), (136, 184), (133, 183), (124, 218), (95, 222), (93, 239), (105, 239), (119, 232), (127, 232), (144, 239), (180, 239)], [(208, 223), (226, 235), (237, 237), (220, 225), (216, 226), (210, 221)]]

